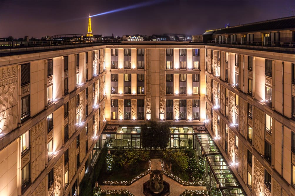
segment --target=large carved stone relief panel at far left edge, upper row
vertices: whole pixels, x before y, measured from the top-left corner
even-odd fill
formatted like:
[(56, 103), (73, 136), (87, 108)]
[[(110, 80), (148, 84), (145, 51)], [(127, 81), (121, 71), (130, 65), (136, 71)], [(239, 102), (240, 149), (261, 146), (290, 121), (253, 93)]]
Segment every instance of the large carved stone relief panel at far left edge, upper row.
[[(3, 126), (1, 127), (2, 134), (9, 133), (17, 128), (19, 119), (17, 79), (17, 65), (0, 68), (0, 123)], [(29, 91), (30, 85), (22, 90)]]

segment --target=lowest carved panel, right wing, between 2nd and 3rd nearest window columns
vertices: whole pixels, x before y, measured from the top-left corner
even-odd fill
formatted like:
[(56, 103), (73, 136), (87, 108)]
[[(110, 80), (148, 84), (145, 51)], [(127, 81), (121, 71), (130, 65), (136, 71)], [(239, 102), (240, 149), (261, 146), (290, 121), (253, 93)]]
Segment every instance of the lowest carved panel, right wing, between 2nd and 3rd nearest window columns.
[(263, 193), (264, 188), (264, 171), (261, 163), (253, 157), (253, 193), (254, 195), (260, 195)]

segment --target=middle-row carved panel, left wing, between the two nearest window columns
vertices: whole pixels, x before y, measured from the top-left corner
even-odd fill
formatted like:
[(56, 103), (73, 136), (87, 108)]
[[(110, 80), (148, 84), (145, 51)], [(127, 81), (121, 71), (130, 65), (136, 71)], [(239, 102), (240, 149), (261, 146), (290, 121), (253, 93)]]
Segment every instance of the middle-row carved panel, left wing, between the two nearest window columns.
[[(31, 180), (32, 182), (45, 168), (45, 126), (44, 120), (30, 129)], [(46, 148), (47, 149), (47, 148)]]

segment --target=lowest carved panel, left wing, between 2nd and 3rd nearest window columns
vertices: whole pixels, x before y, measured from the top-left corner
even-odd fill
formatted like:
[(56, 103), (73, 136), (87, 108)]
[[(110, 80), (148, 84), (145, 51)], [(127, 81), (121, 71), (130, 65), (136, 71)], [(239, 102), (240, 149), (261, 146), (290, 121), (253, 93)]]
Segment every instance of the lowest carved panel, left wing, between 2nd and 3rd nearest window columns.
[(63, 156), (55, 163), (54, 168), (54, 195), (63, 195)]

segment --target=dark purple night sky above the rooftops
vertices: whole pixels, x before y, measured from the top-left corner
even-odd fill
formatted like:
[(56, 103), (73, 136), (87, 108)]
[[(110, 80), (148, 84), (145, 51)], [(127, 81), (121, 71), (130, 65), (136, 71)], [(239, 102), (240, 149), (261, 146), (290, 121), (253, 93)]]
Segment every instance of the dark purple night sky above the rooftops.
[[(41, 38), (87, 32), (88, 16), (146, 1), (3, 1), (0, 0), (0, 37)], [(91, 18), (93, 34), (182, 33), (295, 15), (295, 0), (161, 0), (152, 5)]]

